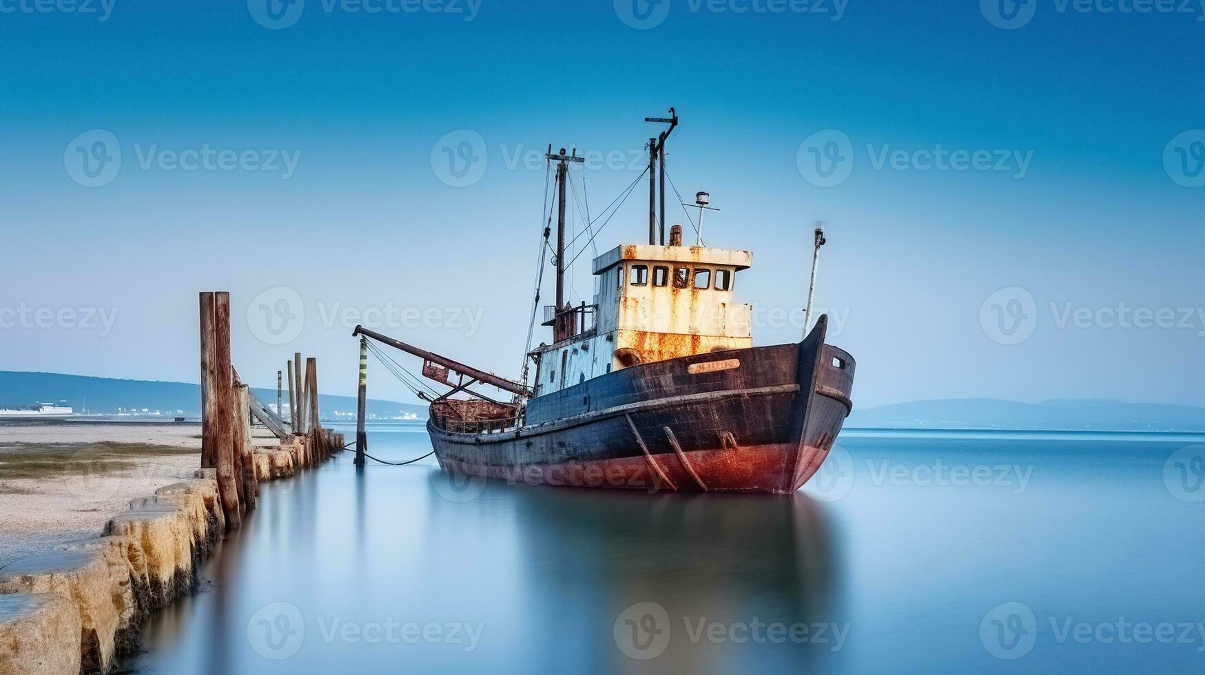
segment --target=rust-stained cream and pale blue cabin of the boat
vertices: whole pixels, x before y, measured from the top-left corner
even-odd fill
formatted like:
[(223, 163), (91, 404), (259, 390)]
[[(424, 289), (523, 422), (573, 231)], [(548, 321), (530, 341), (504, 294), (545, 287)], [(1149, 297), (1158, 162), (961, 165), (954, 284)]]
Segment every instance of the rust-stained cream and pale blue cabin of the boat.
[(593, 305), (545, 307), (554, 341), (531, 352), (535, 395), (641, 363), (752, 347), (753, 310), (733, 295), (752, 259), (748, 251), (653, 245), (599, 256)]

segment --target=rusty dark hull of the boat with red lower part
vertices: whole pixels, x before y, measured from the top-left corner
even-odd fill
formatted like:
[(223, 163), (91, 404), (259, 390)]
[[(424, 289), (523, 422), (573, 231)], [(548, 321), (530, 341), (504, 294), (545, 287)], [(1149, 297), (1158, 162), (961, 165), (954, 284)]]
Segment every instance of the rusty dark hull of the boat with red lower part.
[(525, 422), (468, 433), (433, 409), (445, 471), (509, 482), (788, 494), (819, 469), (852, 407), (854, 362), (824, 342), (634, 365), (528, 401)]

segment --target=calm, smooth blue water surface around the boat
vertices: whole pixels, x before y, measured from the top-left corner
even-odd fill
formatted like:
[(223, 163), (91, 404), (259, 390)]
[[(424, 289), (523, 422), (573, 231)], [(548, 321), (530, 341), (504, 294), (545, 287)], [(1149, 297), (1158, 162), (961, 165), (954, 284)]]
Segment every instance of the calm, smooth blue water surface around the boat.
[[(846, 432), (789, 498), (464, 482), (343, 453), (263, 486), (127, 665), (1200, 673), (1194, 444)], [(370, 447), (430, 451), (421, 423), (370, 425)]]

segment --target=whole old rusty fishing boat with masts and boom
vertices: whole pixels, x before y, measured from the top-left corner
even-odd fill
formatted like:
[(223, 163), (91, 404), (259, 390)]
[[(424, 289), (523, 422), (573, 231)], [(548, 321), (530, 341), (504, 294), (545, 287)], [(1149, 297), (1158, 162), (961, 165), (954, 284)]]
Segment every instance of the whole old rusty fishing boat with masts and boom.
[[(677, 124), (676, 116), (657, 121), (669, 131)], [(528, 352), (533, 376), (524, 368), (518, 381), (500, 377), (357, 327), (362, 372), (372, 339), (422, 358), (423, 375), (451, 389), (427, 397), (427, 430), (445, 471), (557, 486), (792, 493), (824, 462), (852, 406), (853, 358), (824, 341), (825, 316), (798, 344), (754, 347), (752, 309), (734, 298), (752, 254), (703, 246), (701, 236), (683, 246), (680, 225), (666, 241), (664, 177), (658, 241), (657, 163), (664, 175), (669, 131), (649, 139), (648, 243), (598, 256), (593, 303), (576, 306), (565, 300), (565, 199), (569, 165), (580, 158), (549, 148), (557, 295), (545, 309), (552, 341)], [(701, 215), (703, 199), (699, 206)], [(822, 243), (817, 230), (816, 251)], [(511, 398), (486, 397), (476, 385)]]

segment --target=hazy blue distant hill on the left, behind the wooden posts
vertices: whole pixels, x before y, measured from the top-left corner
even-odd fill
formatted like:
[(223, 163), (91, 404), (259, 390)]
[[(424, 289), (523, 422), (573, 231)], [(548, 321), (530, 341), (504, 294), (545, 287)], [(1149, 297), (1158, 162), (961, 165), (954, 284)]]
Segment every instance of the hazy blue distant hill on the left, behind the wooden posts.
[[(265, 404), (276, 404), (276, 389), (252, 391)], [(288, 394), (286, 393), (286, 398)], [(86, 377), (58, 372), (16, 372), (0, 370), (0, 407), (33, 405), (34, 403), (66, 401), (76, 411), (87, 407), (89, 413), (114, 415), (118, 411), (159, 410), (164, 415), (200, 417), (201, 388), (184, 382), (151, 382), (146, 380), (113, 380), (110, 377)], [(288, 405), (286, 403), (286, 405)], [(323, 418), (354, 416), (355, 398), (318, 395), (318, 407)], [(177, 412), (183, 411), (183, 412)], [(345, 413), (339, 415), (337, 413)], [(415, 413), (427, 417), (427, 406), (390, 400), (369, 399), (370, 417), (398, 417)]]

